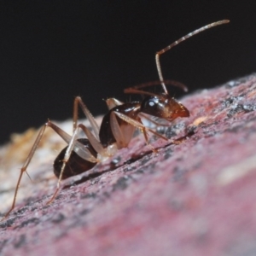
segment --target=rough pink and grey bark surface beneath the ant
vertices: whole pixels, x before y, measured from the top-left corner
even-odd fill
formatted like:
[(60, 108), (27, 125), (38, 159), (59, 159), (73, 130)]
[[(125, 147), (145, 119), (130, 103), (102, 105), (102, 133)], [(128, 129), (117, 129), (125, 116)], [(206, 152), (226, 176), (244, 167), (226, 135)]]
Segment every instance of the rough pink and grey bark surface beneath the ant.
[(256, 77), (181, 102), (157, 154), (139, 135), (50, 205), (55, 179), (34, 185), (0, 223), (1, 255), (256, 255)]

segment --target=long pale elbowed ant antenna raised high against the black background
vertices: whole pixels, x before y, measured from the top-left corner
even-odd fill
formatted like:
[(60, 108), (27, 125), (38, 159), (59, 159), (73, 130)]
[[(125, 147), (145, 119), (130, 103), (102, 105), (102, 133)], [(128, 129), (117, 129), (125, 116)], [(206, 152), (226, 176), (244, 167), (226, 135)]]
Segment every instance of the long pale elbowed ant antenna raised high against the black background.
[(174, 43), (166, 46), (166, 48), (161, 49), (160, 51), (158, 51), (155, 54), (155, 62), (156, 62), (157, 72), (158, 72), (163, 90), (165, 91), (166, 94), (168, 94), (168, 91), (166, 90), (166, 84), (164, 82), (163, 74), (162, 74), (161, 67), (160, 67), (160, 60), (159, 60), (160, 55), (164, 54), (167, 50), (171, 49), (173, 46), (185, 41), (188, 38), (191, 38), (191, 37), (195, 36), (196, 34), (198, 34), (200, 32), (203, 32), (203, 31), (207, 30), (208, 28), (211, 28), (213, 26), (222, 25), (222, 24), (229, 23), (229, 22), (230, 22), (230, 20), (219, 20), (219, 21), (213, 22), (211, 24), (208, 24), (207, 26), (202, 26), (201, 28), (196, 29), (194, 32), (189, 32), (186, 36), (184, 36), (182, 38), (179, 38), (177, 41), (175, 41)]

